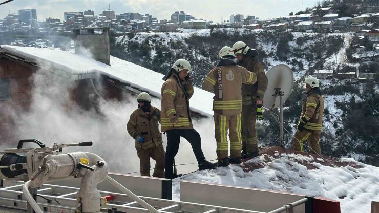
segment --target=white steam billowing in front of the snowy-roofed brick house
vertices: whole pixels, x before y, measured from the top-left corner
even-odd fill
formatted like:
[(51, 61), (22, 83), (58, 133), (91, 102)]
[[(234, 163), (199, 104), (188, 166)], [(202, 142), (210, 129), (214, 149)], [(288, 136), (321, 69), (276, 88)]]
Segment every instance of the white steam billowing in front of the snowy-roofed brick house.
[[(110, 172), (139, 171), (135, 142), (126, 130), (130, 114), (137, 109), (135, 96), (124, 97), (121, 102), (97, 100), (102, 113), (99, 115), (94, 110), (83, 110), (72, 101), (70, 91), (76, 88), (77, 81), (41, 70), (37, 71), (30, 81), (33, 84), (30, 110), (14, 110), (11, 113), (16, 124), (16, 141), (37, 139), (47, 146), (53, 143), (93, 141), (93, 146), (70, 147), (64, 149), (64, 153), (95, 153), (107, 161)], [(152, 105), (160, 108), (161, 102), (159, 99), (153, 99)], [(202, 148), (207, 160), (216, 159), (213, 119), (194, 120), (194, 127), (201, 135)], [(165, 135), (162, 135), (162, 138), (165, 147), (167, 138)], [(197, 169), (191, 145), (183, 138), (175, 160), (176, 164), (195, 163), (177, 166), (178, 173), (188, 173)], [(155, 162), (151, 162), (151, 167), (154, 168)]]

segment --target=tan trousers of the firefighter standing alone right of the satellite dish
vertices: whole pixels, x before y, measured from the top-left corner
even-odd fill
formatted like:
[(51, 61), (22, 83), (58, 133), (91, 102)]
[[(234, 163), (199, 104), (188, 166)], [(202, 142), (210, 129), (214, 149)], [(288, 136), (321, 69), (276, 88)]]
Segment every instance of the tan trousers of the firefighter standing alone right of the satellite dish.
[(304, 152), (303, 142), (307, 141), (309, 146), (309, 151), (311, 153), (317, 153), (321, 155), (320, 148), (320, 133), (321, 130), (306, 130), (304, 129), (302, 132), (299, 130), (292, 137), (292, 147), (294, 150), (299, 150)]

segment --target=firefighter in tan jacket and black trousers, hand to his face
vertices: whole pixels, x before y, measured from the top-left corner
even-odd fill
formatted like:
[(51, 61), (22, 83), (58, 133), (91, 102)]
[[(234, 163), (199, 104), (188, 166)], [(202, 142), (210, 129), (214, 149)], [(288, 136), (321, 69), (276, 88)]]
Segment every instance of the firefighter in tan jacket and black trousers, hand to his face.
[(162, 95), (162, 132), (167, 133), (167, 147), (165, 154), (165, 177), (174, 179), (177, 175), (173, 171), (175, 155), (179, 150), (180, 137), (191, 143), (192, 150), (198, 162), (199, 170), (213, 169), (217, 163), (205, 160), (201, 150), (201, 138), (192, 126), (189, 99), (194, 94), (192, 79), (188, 75), (191, 65), (185, 59), (175, 61), (169, 73), (164, 76)]

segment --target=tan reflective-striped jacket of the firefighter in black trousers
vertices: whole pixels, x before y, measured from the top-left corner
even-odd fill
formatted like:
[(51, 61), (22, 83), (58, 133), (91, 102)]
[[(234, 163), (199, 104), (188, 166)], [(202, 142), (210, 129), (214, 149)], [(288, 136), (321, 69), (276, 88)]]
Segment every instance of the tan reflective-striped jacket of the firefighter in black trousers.
[[(180, 81), (173, 73), (163, 83), (162, 95), (162, 123), (161, 131), (172, 129), (193, 129), (191, 113), (189, 111), (189, 98), (194, 94), (192, 80)], [(173, 119), (178, 123), (174, 124)]]

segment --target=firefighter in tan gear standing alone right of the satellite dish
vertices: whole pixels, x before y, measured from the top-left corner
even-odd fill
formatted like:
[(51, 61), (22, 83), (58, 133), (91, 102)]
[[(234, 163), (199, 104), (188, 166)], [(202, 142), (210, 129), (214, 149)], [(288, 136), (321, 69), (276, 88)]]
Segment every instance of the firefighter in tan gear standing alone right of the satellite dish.
[(321, 96), (319, 80), (314, 77), (305, 79), (306, 96), (303, 99), (300, 121), (297, 131), (292, 137), (294, 150), (303, 150), (303, 142), (307, 141), (311, 153), (321, 155), (320, 133), (324, 114), (324, 98)]

